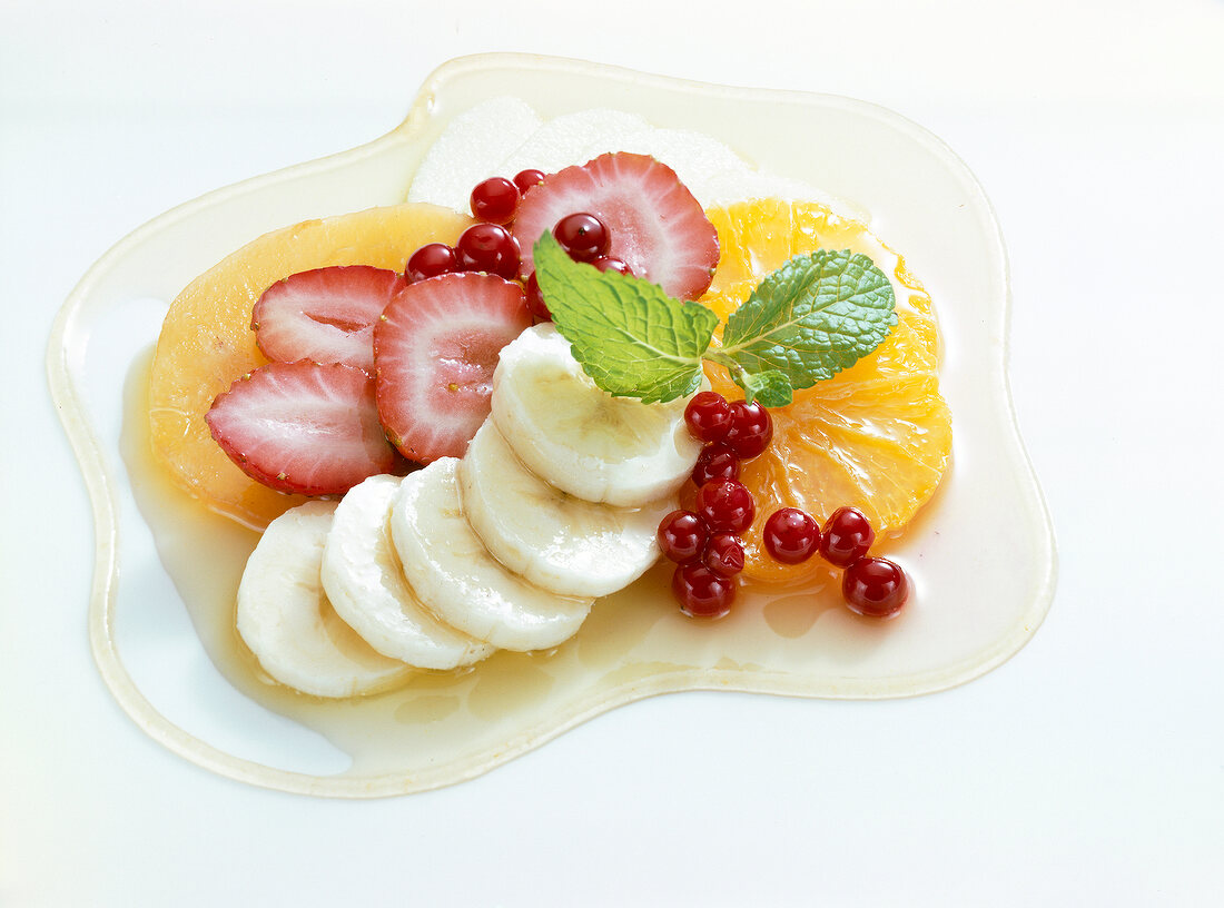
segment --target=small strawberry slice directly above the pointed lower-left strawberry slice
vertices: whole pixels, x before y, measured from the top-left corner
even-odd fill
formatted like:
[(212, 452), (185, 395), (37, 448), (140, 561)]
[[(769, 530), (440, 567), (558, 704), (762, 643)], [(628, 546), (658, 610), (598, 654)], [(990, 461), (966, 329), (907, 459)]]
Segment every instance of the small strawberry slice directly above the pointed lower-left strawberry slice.
[(375, 322), (406, 285), (403, 275), (367, 264), (299, 272), (263, 291), (251, 328), (275, 362), (344, 362), (373, 372)]

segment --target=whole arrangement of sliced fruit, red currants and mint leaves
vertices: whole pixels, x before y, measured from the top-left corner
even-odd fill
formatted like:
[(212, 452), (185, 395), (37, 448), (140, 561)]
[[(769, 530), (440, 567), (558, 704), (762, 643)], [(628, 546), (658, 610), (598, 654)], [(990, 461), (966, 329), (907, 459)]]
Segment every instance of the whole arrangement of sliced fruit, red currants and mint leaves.
[(694, 634), (821, 571), (892, 617), (874, 546), (951, 445), (930, 297), (835, 199), (513, 99), (455, 117), (405, 203), (192, 283), (148, 419), (177, 485), (262, 532), (237, 631), (318, 698), (547, 651), (660, 559)]

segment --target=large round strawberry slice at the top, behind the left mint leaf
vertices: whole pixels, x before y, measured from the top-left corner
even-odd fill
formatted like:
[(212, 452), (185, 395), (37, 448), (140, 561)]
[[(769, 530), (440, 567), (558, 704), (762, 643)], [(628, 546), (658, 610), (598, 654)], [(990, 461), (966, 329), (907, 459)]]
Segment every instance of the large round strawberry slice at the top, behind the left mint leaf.
[(567, 214), (594, 214), (607, 226), (619, 258), (671, 296), (695, 300), (718, 264), (718, 234), (676, 171), (645, 154), (602, 154), (550, 174), (523, 197), (514, 215), (520, 274), (535, 269), (532, 247)]

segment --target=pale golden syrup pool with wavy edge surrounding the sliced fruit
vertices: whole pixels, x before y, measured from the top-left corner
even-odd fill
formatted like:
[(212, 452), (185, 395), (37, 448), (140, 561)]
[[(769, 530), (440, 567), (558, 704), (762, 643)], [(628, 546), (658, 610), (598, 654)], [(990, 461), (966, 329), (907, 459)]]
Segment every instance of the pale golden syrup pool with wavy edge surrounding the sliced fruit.
[[(548, 653), (498, 653), (361, 701), (321, 704), (266, 683), (233, 629), (255, 534), (204, 513), (147, 469), (143, 368), (168, 301), (267, 230), (404, 198), (450, 117), (490, 97), (545, 115), (592, 99), (705, 132), (754, 164), (853, 199), (936, 301), (953, 465), (886, 547), (916, 594), (878, 624), (836, 591), (741, 600), (728, 619), (677, 613), (666, 568), (596, 603)], [(60, 312), (49, 373), (81, 460), (98, 538), (89, 629), (132, 718), (187, 759), (255, 784), (340, 797), (435, 788), (487, 771), (602, 711), (688, 689), (873, 699), (949, 688), (1032, 636), (1054, 589), (1049, 518), (1005, 373), (1009, 288), (980, 187), (939, 140), (880, 108), (827, 95), (681, 82), (592, 64), (487, 55), (439, 69), (401, 126), (367, 146), (190, 202), (108, 252)], [(135, 403), (133, 403), (135, 401)]]

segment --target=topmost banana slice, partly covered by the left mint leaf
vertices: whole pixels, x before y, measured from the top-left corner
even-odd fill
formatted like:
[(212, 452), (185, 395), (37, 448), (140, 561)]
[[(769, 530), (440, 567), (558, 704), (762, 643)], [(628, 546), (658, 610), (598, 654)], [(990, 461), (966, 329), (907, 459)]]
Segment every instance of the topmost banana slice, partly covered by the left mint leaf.
[(503, 348), (493, 372), (502, 437), (531, 472), (588, 502), (639, 508), (674, 494), (701, 452), (684, 425), (687, 405), (612, 396), (548, 323)]

